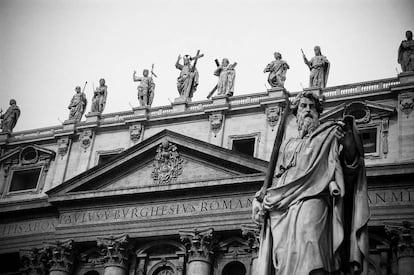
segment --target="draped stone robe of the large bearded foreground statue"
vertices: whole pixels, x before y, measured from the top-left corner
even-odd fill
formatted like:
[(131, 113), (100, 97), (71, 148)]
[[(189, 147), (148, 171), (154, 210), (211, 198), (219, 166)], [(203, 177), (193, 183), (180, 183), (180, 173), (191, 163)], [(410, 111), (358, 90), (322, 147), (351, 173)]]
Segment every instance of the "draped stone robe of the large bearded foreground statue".
[[(351, 165), (341, 163), (335, 127), (335, 123), (323, 124), (310, 137), (289, 140), (284, 146), (279, 161), (283, 168), (263, 201), (269, 216), (262, 229), (258, 275), (271, 274), (272, 261), (278, 275), (335, 271), (343, 264), (343, 247), (349, 249), (349, 262), (367, 271), (365, 168), (362, 158)], [(346, 188), (346, 184), (353, 186)], [(336, 186), (338, 197), (330, 195), (330, 185)], [(345, 190), (353, 190), (350, 201), (344, 200)], [(344, 224), (343, 207), (349, 203), (352, 223)], [(344, 231), (349, 234), (345, 246)]]

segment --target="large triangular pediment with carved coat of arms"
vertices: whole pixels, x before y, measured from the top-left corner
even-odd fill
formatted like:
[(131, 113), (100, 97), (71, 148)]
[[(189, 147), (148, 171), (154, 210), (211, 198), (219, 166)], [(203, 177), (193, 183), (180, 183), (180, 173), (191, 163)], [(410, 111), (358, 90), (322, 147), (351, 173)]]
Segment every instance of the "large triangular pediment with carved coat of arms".
[(169, 130), (142, 141), (47, 191), (49, 197), (123, 189), (165, 188), (181, 183), (265, 173), (267, 162)]

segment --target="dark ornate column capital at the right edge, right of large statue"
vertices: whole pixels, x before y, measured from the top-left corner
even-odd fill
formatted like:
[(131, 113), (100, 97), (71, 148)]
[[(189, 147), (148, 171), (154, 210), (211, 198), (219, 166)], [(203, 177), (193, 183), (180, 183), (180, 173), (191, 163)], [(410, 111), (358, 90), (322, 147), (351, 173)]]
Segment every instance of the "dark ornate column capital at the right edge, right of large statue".
[(414, 256), (414, 227), (410, 222), (386, 224), (385, 232), (390, 236), (398, 258)]

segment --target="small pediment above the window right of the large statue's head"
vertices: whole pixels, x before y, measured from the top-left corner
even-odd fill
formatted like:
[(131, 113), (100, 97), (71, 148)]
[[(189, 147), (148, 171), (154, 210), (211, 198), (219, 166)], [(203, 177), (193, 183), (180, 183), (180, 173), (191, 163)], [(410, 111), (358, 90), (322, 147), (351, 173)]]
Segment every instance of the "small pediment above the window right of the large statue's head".
[(369, 100), (342, 103), (321, 115), (322, 121), (340, 120), (346, 115), (353, 115), (357, 123), (367, 123), (372, 119), (390, 117), (396, 113), (394, 106)]

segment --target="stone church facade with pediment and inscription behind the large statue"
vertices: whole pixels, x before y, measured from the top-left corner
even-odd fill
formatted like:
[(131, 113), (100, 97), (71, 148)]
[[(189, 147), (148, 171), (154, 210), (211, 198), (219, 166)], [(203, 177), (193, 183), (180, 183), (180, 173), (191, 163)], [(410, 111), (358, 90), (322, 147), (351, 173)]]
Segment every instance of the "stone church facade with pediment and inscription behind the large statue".
[[(410, 77), (322, 89), (322, 120), (362, 131), (370, 274), (413, 267)], [(283, 102), (217, 96), (0, 136), (0, 274), (255, 274), (251, 204)]]

